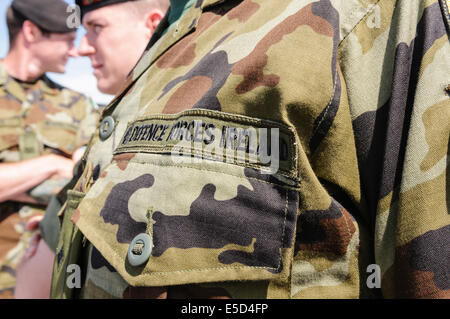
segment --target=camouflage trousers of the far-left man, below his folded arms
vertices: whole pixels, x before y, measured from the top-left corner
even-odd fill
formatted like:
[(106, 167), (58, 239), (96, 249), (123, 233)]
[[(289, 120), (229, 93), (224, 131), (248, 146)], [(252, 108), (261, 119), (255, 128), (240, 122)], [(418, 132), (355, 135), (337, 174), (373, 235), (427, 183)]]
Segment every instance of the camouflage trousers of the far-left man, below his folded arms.
[(16, 269), (37, 231), (25, 226), (34, 216), (43, 215), (42, 206), (17, 202), (0, 203), (0, 299), (14, 298)]

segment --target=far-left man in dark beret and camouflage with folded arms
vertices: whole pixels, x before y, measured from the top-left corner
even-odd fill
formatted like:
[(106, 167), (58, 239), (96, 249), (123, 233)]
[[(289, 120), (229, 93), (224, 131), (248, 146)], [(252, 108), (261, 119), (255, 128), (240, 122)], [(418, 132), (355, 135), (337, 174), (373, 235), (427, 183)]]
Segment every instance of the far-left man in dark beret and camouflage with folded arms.
[(14, 0), (7, 11), (10, 48), (0, 61), (0, 298), (11, 298), (15, 272), (42, 215), (70, 179), (98, 114), (81, 93), (46, 72), (64, 73), (76, 57), (76, 30), (59, 0)]

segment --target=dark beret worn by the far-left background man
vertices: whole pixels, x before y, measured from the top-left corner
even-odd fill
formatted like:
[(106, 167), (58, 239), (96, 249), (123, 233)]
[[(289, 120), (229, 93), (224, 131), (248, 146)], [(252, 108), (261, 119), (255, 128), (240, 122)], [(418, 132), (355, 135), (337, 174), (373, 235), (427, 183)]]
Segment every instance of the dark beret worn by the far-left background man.
[(11, 7), (40, 28), (55, 33), (76, 31), (67, 23), (72, 11), (62, 0), (13, 0)]

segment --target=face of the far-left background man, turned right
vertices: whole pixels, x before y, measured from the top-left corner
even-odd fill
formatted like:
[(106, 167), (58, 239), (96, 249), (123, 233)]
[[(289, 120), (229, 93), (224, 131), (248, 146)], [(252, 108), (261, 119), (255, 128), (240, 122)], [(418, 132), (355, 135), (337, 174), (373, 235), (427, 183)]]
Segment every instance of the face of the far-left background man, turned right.
[(33, 50), (45, 72), (64, 73), (67, 60), (78, 56), (74, 45), (76, 32), (42, 35), (33, 43)]

